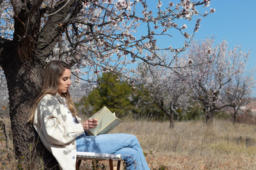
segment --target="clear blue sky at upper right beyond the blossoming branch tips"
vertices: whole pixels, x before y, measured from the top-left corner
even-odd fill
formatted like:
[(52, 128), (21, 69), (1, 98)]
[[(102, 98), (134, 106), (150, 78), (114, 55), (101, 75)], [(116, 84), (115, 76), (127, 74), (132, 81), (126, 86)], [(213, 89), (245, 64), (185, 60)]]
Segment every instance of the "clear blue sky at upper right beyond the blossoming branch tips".
[[(169, 1), (162, 0), (163, 6), (168, 4)], [(172, 0), (173, 3), (179, 1)], [(156, 8), (157, 1), (148, 1), (148, 8)], [(209, 8), (202, 9), (200, 11), (209, 11), (210, 8), (214, 8), (215, 13), (211, 13), (207, 17), (202, 18), (200, 23), (200, 29), (196, 32), (194, 39), (203, 40), (214, 36), (215, 44), (217, 45), (221, 41), (228, 42), (228, 48), (232, 49), (236, 45), (241, 46), (241, 50), (244, 52), (250, 51), (250, 57), (246, 66), (246, 71), (252, 70), (256, 67), (256, 0), (211, 0)], [(179, 25), (183, 23), (180, 22)], [(186, 22), (189, 27), (194, 27), (195, 21)], [(190, 28), (191, 29), (191, 28)], [(140, 31), (138, 31), (140, 32)], [(179, 33), (179, 32), (177, 32)], [(184, 41), (173, 33), (173, 41), (168, 40), (168, 43), (177, 44)], [(162, 42), (163, 44), (166, 42)], [(256, 73), (255, 73), (256, 74)], [(256, 81), (256, 75), (255, 75)], [(253, 89), (252, 96), (256, 97), (256, 88)]]

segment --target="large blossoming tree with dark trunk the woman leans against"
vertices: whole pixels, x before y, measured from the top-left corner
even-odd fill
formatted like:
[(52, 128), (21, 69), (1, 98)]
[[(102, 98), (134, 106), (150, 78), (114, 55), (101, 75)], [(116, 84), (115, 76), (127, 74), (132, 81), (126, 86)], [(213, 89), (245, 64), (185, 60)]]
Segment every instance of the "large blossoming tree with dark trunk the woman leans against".
[[(121, 74), (129, 77), (132, 69), (125, 66), (137, 60), (150, 66), (171, 67), (172, 63), (165, 62), (157, 52), (169, 50), (177, 57), (184, 51), (198, 31), (201, 18), (214, 12), (198, 8), (209, 6), (209, 2), (156, 1), (156, 8), (150, 10), (143, 0), (0, 0), (0, 66), (8, 86), (15, 154), (26, 160), (25, 164), (19, 162), (20, 166), (27, 169), (38, 160), (38, 154), (34, 154), (35, 159), (28, 164), (29, 153), (34, 153), (29, 152), (30, 144), (37, 138), (26, 120), (31, 99), (40, 90), (40, 73), (47, 61), (65, 60), (73, 66), (74, 74), (83, 68), (88, 81), (103, 71), (122, 70)], [(195, 22), (195, 27), (187, 29), (186, 24), (177, 24), (180, 19)], [(136, 32), (140, 28), (143, 31)], [(184, 37), (184, 45), (157, 46), (160, 36), (168, 41), (175, 30)], [(51, 167), (51, 163), (45, 162), (46, 165)]]

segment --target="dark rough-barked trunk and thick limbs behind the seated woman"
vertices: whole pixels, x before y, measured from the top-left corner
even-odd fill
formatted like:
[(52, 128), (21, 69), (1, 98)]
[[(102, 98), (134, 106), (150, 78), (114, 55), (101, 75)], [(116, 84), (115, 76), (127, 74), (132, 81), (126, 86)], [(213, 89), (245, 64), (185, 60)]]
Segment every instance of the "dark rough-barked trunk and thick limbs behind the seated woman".
[[(58, 13), (47, 18), (41, 31), (39, 6), (42, 1), (11, 2), (15, 11), (15, 31), (12, 41), (0, 38), (0, 65), (7, 81), (17, 163), (22, 169), (59, 169), (58, 162), (44, 147), (33, 125), (27, 122), (33, 99), (42, 87), (45, 59), (81, 9), (81, 1), (70, 0)], [(64, 4), (59, 4), (58, 8)]]

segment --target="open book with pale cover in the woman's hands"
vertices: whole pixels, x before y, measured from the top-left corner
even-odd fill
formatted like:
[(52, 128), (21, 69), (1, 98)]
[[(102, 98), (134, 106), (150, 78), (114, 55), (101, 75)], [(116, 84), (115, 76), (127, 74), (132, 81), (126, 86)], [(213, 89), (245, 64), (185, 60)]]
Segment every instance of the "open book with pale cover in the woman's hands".
[(94, 136), (106, 134), (122, 122), (120, 118), (116, 117), (115, 112), (112, 113), (106, 106), (97, 111), (91, 118), (97, 118), (98, 120), (98, 125), (89, 130)]

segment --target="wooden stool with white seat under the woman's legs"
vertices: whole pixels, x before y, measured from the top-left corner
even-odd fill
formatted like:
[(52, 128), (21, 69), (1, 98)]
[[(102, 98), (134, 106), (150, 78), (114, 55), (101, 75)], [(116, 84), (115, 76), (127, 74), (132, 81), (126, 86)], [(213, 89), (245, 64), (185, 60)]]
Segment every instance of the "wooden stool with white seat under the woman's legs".
[(79, 170), (81, 160), (109, 160), (110, 170), (113, 170), (113, 160), (118, 160), (116, 170), (120, 170), (122, 157), (120, 154), (76, 152), (76, 170)]

